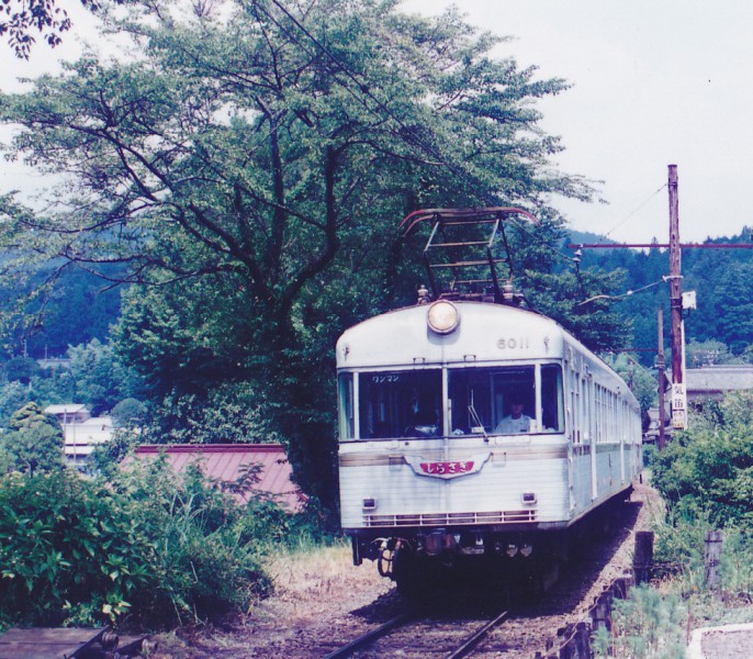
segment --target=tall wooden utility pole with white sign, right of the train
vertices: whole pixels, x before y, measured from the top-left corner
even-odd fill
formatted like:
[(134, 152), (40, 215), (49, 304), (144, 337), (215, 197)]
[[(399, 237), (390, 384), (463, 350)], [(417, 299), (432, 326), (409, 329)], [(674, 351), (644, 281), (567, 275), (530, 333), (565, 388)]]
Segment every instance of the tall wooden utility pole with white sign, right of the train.
[(670, 313), (672, 334), (672, 427), (687, 427), (687, 396), (685, 394), (685, 346), (683, 337), (683, 275), (679, 246), (679, 199), (677, 166), (668, 166), (670, 192)]

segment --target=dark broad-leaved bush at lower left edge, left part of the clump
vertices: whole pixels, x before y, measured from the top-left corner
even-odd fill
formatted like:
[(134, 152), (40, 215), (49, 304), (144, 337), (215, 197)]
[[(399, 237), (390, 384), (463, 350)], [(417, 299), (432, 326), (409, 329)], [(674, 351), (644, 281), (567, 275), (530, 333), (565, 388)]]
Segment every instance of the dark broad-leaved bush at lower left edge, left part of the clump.
[[(108, 489), (69, 470), (10, 474), (0, 487), (0, 607), (14, 624), (122, 613), (147, 585), (150, 543)], [(93, 619), (91, 622), (94, 622)]]

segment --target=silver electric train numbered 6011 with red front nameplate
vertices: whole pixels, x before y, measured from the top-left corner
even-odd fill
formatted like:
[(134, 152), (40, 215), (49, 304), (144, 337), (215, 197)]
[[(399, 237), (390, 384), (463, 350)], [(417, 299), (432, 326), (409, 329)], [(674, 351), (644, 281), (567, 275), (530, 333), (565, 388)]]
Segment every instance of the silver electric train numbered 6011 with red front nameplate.
[(554, 565), (641, 470), (628, 386), (531, 311), (424, 295), (346, 331), (337, 371), (342, 528), (404, 591)]

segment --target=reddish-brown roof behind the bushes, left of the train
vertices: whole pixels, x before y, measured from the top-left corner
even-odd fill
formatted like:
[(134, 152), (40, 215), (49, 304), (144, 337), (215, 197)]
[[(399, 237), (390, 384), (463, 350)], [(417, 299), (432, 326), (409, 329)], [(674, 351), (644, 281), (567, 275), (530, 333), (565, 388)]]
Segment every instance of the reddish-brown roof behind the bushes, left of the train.
[[(241, 467), (260, 465), (259, 481), (254, 490), (273, 494), (276, 501), (292, 512), (301, 510), (305, 495), (291, 480), (292, 468), (279, 444), (144, 444), (136, 448), (136, 457), (157, 456), (160, 451), (176, 471), (199, 463), (211, 480), (234, 482), (241, 476)], [(246, 503), (247, 494), (236, 499)]]

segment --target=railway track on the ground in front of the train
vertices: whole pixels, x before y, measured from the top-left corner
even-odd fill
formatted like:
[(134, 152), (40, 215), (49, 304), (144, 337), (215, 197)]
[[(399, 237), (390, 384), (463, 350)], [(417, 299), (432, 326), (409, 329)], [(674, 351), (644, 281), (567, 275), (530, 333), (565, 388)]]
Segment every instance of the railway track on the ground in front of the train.
[[(344, 657), (442, 656), (461, 659), (471, 655), (476, 646), (509, 617), (503, 611), (479, 626), (477, 621), (418, 617), (415, 612), (398, 615), (379, 627), (355, 638), (326, 656)], [(469, 633), (469, 627), (476, 627)]]

